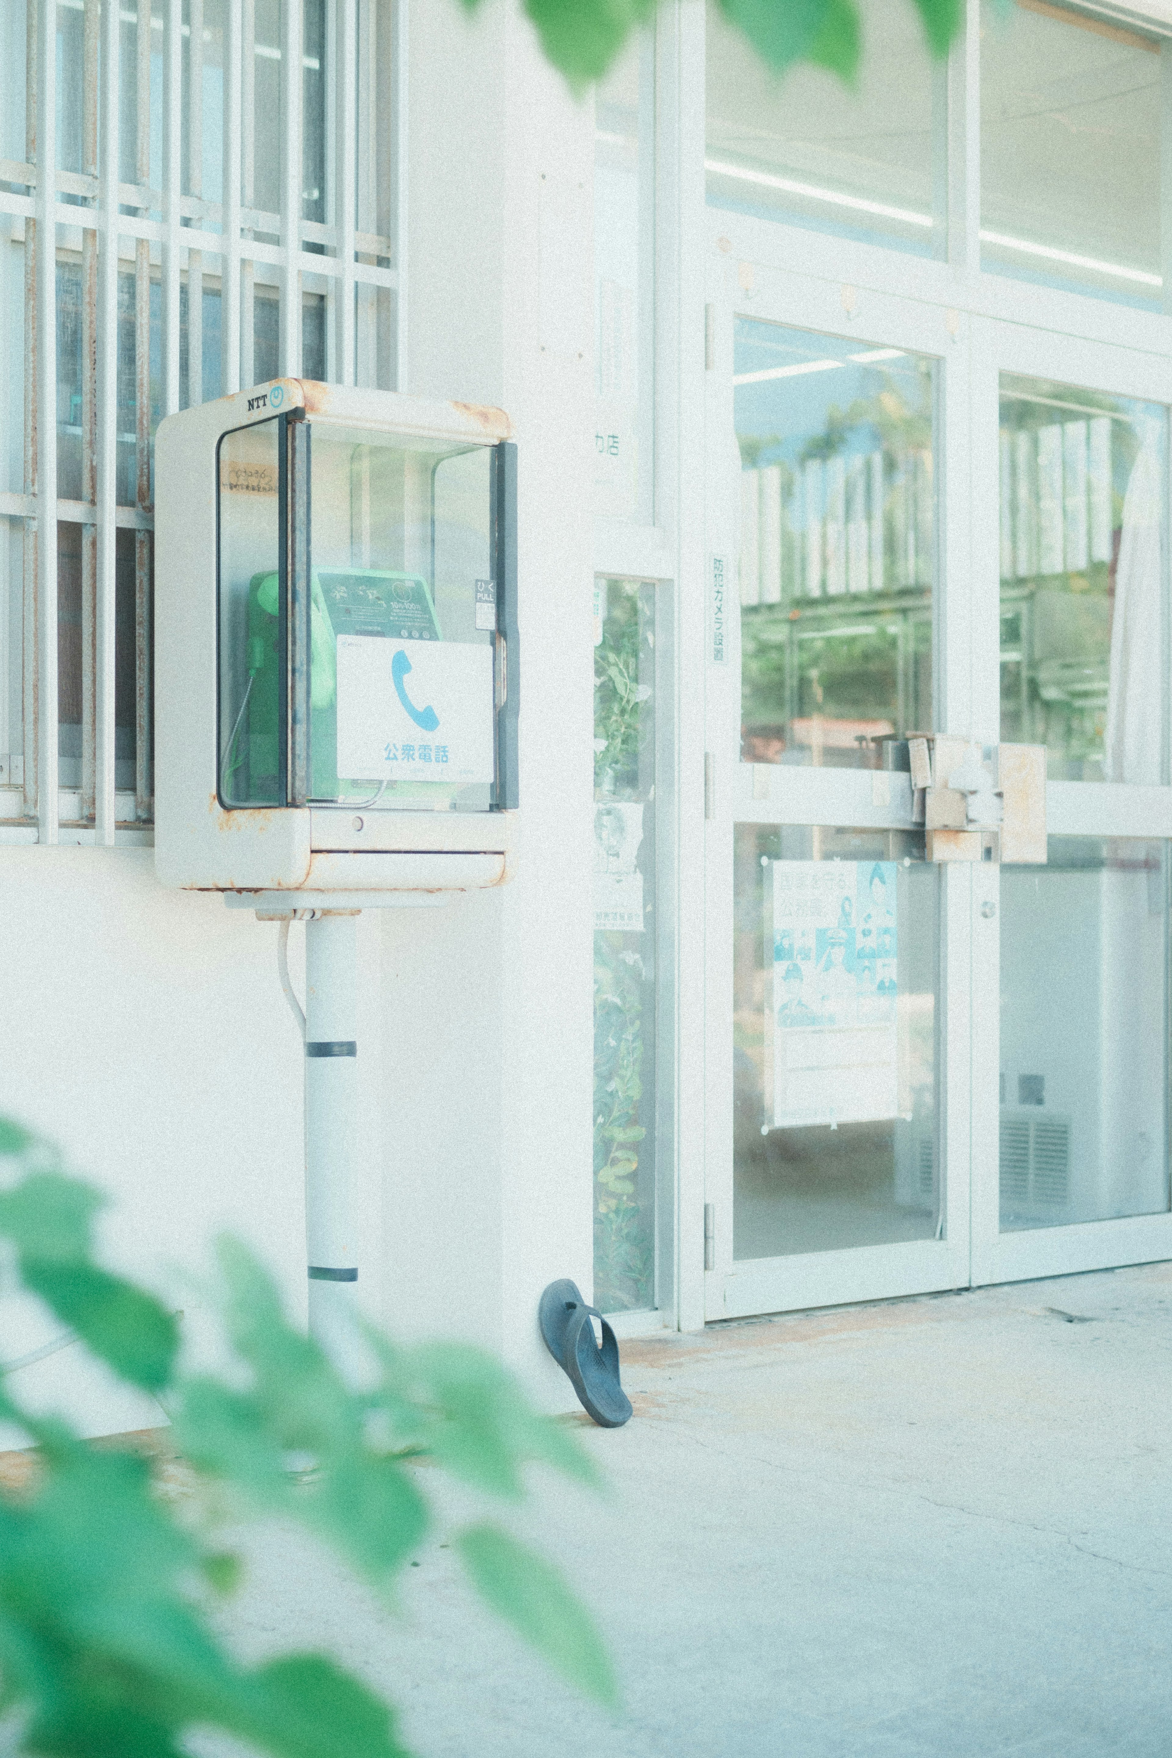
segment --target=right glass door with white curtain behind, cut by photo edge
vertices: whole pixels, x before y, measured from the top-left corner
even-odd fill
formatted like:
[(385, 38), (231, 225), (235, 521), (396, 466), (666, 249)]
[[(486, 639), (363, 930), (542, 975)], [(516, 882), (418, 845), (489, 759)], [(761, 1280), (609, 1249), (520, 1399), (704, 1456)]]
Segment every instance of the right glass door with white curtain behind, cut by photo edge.
[(1161, 357), (977, 329), (977, 693), (1045, 747), (1049, 835), (980, 875), (975, 1282), (1172, 1255), (1170, 401)]

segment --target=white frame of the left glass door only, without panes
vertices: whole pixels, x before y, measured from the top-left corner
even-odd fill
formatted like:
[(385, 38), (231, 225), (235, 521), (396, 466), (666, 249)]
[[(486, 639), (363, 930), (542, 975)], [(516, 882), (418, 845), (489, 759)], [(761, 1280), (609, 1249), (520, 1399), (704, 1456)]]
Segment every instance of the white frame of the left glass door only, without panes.
[[(708, 589), (712, 556), (736, 548), (731, 529), (740, 461), (733, 429), (733, 325), (743, 315), (798, 329), (859, 338), (859, 346), (903, 346), (935, 355), (938, 367), (938, 447), (942, 475), (956, 483), (952, 520), (938, 515), (940, 566), (935, 622), (935, 724), (968, 731), (972, 714), (970, 571), (963, 568), (966, 524), (968, 374), (965, 320), (956, 313), (717, 255), (710, 276), (713, 371), (708, 374)], [(733, 1259), (733, 826), (843, 825), (910, 826), (910, 789), (896, 775), (870, 770), (814, 770), (740, 763), (740, 607), (729, 591), (729, 657), (706, 645), (706, 749), (710, 816), (706, 877), (706, 1183), (712, 1208), (713, 1268), (705, 1275), (705, 1311), (731, 1318), (847, 1301), (963, 1287), (970, 1278), (970, 948), (973, 877), (940, 870), (940, 1007), (937, 1090), (944, 1236), (896, 1245)], [(951, 640), (945, 640), (945, 631)]]

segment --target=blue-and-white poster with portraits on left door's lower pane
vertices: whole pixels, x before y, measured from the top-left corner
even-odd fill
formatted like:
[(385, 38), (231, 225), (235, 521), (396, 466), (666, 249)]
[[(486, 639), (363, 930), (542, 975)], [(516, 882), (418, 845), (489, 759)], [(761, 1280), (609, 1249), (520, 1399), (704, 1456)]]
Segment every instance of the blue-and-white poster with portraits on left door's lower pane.
[(773, 1127), (898, 1115), (894, 861), (773, 861)]

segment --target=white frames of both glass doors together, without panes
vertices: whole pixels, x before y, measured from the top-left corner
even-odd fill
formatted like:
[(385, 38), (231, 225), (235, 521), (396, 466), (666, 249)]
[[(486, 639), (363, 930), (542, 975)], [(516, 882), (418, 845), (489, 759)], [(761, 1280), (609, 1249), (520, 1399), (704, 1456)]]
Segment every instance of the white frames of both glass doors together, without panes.
[[(713, 371), (708, 378), (708, 591), (712, 556), (729, 533), (733, 443), (733, 320), (745, 315), (861, 345), (907, 346), (940, 360), (940, 584), (935, 601), (935, 726), (993, 744), (1000, 726), (1000, 480), (998, 378), (1019, 373), (1172, 406), (1172, 360), (1146, 348), (1061, 334), (819, 276), (734, 262), (713, 253), (708, 297)], [(1137, 332), (1151, 341), (1144, 325)], [(1172, 448), (1170, 448), (1172, 457)], [(1172, 469), (1172, 464), (1170, 464)], [(715, 492), (713, 492), (715, 489)], [(1172, 503), (1172, 478), (1168, 482)], [(1165, 564), (1167, 566), (1167, 564)], [(734, 591), (729, 594), (736, 598)], [(708, 607), (710, 610), (710, 607)], [(729, 605), (727, 652), (712, 659), (706, 629), (705, 826), (705, 1201), (712, 1204), (713, 1268), (706, 1318), (915, 1294), (966, 1283), (1026, 1280), (1172, 1257), (1172, 1213), (1000, 1232), (1000, 872), (945, 868), (940, 893), (940, 1035), (945, 1236), (782, 1259), (733, 1259), (733, 825), (831, 823), (884, 828), (905, 821), (882, 805), (866, 772), (754, 770), (738, 759), (740, 629)], [(1172, 751), (1168, 752), (1172, 775)], [(759, 777), (754, 781), (754, 775)], [(893, 800), (896, 795), (893, 793)], [(893, 816), (894, 812), (894, 816)], [(1172, 840), (1172, 786), (1051, 782), (1051, 835)]]

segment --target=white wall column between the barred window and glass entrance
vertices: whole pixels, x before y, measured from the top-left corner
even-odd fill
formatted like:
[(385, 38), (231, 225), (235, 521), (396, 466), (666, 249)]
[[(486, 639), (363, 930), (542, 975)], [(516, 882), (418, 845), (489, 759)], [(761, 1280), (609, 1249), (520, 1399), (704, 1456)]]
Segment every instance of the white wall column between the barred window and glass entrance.
[(497, 891), (385, 912), (385, 1311), (571, 1408), (536, 1315), (592, 1285), (592, 107), (520, 9), (422, 0), (408, 54), (404, 389), (518, 436), (520, 846)]

